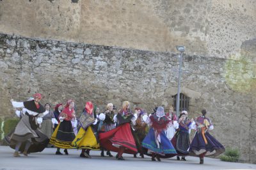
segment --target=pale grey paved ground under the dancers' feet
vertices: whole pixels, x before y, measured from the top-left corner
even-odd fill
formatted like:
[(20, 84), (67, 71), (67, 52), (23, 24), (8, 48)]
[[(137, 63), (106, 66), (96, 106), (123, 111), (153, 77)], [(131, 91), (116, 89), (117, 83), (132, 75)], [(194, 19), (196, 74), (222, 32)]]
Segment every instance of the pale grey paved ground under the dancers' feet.
[[(256, 169), (255, 164), (222, 162), (214, 158), (205, 158), (205, 164), (198, 164), (199, 158), (187, 157), (187, 161), (175, 158), (162, 159), (162, 162), (152, 162), (150, 157), (133, 158), (124, 154), (125, 160), (114, 157), (100, 157), (100, 151), (92, 151), (92, 158), (80, 158), (80, 150), (68, 150), (70, 155), (54, 155), (55, 148), (45, 148), (41, 153), (31, 153), (28, 157), (13, 157), (13, 151), (8, 146), (0, 146), (0, 170), (15, 169), (52, 169), (52, 170), (82, 170), (82, 169)], [(62, 150), (63, 151), (63, 150)], [(115, 155), (115, 153), (113, 153)]]

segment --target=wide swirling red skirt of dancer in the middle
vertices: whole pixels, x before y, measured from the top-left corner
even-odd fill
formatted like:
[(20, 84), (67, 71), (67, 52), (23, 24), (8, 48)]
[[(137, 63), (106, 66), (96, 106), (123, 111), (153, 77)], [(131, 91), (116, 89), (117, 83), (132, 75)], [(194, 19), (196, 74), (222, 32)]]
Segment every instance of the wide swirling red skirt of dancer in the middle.
[(131, 132), (131, 125), (124, 123), (108, 132), (99, 134), (100, 145), (106, 150), (118, 152), (118, 148), (123, 146), (124, 153), (134, 154), (138, 150)]

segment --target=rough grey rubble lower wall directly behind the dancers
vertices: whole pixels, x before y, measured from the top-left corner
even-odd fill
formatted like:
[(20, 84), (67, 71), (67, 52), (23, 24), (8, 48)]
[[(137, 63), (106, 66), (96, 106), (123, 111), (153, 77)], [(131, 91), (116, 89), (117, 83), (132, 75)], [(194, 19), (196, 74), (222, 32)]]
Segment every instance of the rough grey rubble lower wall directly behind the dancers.
[[(241, 160), (255, 162), (255, 47), (243, 43), (246, 58), (184, 56), (182, 93), (189, 116), (206, 108), (224, 146), (239, 148)], [(254, 63), (254, 65), (253, 65)], [(24, 101), (33, 93), (52, 105), (76, 100), (77, 112), (92, 100), (104, 109), (124, 100), (152, 111), (172, 105), (177, 93), (179, 58), (170, 52), (151, 52), (84, 43), (59, 42), (0, 34), (0, 115), (14, 114), (10, 98)]]

